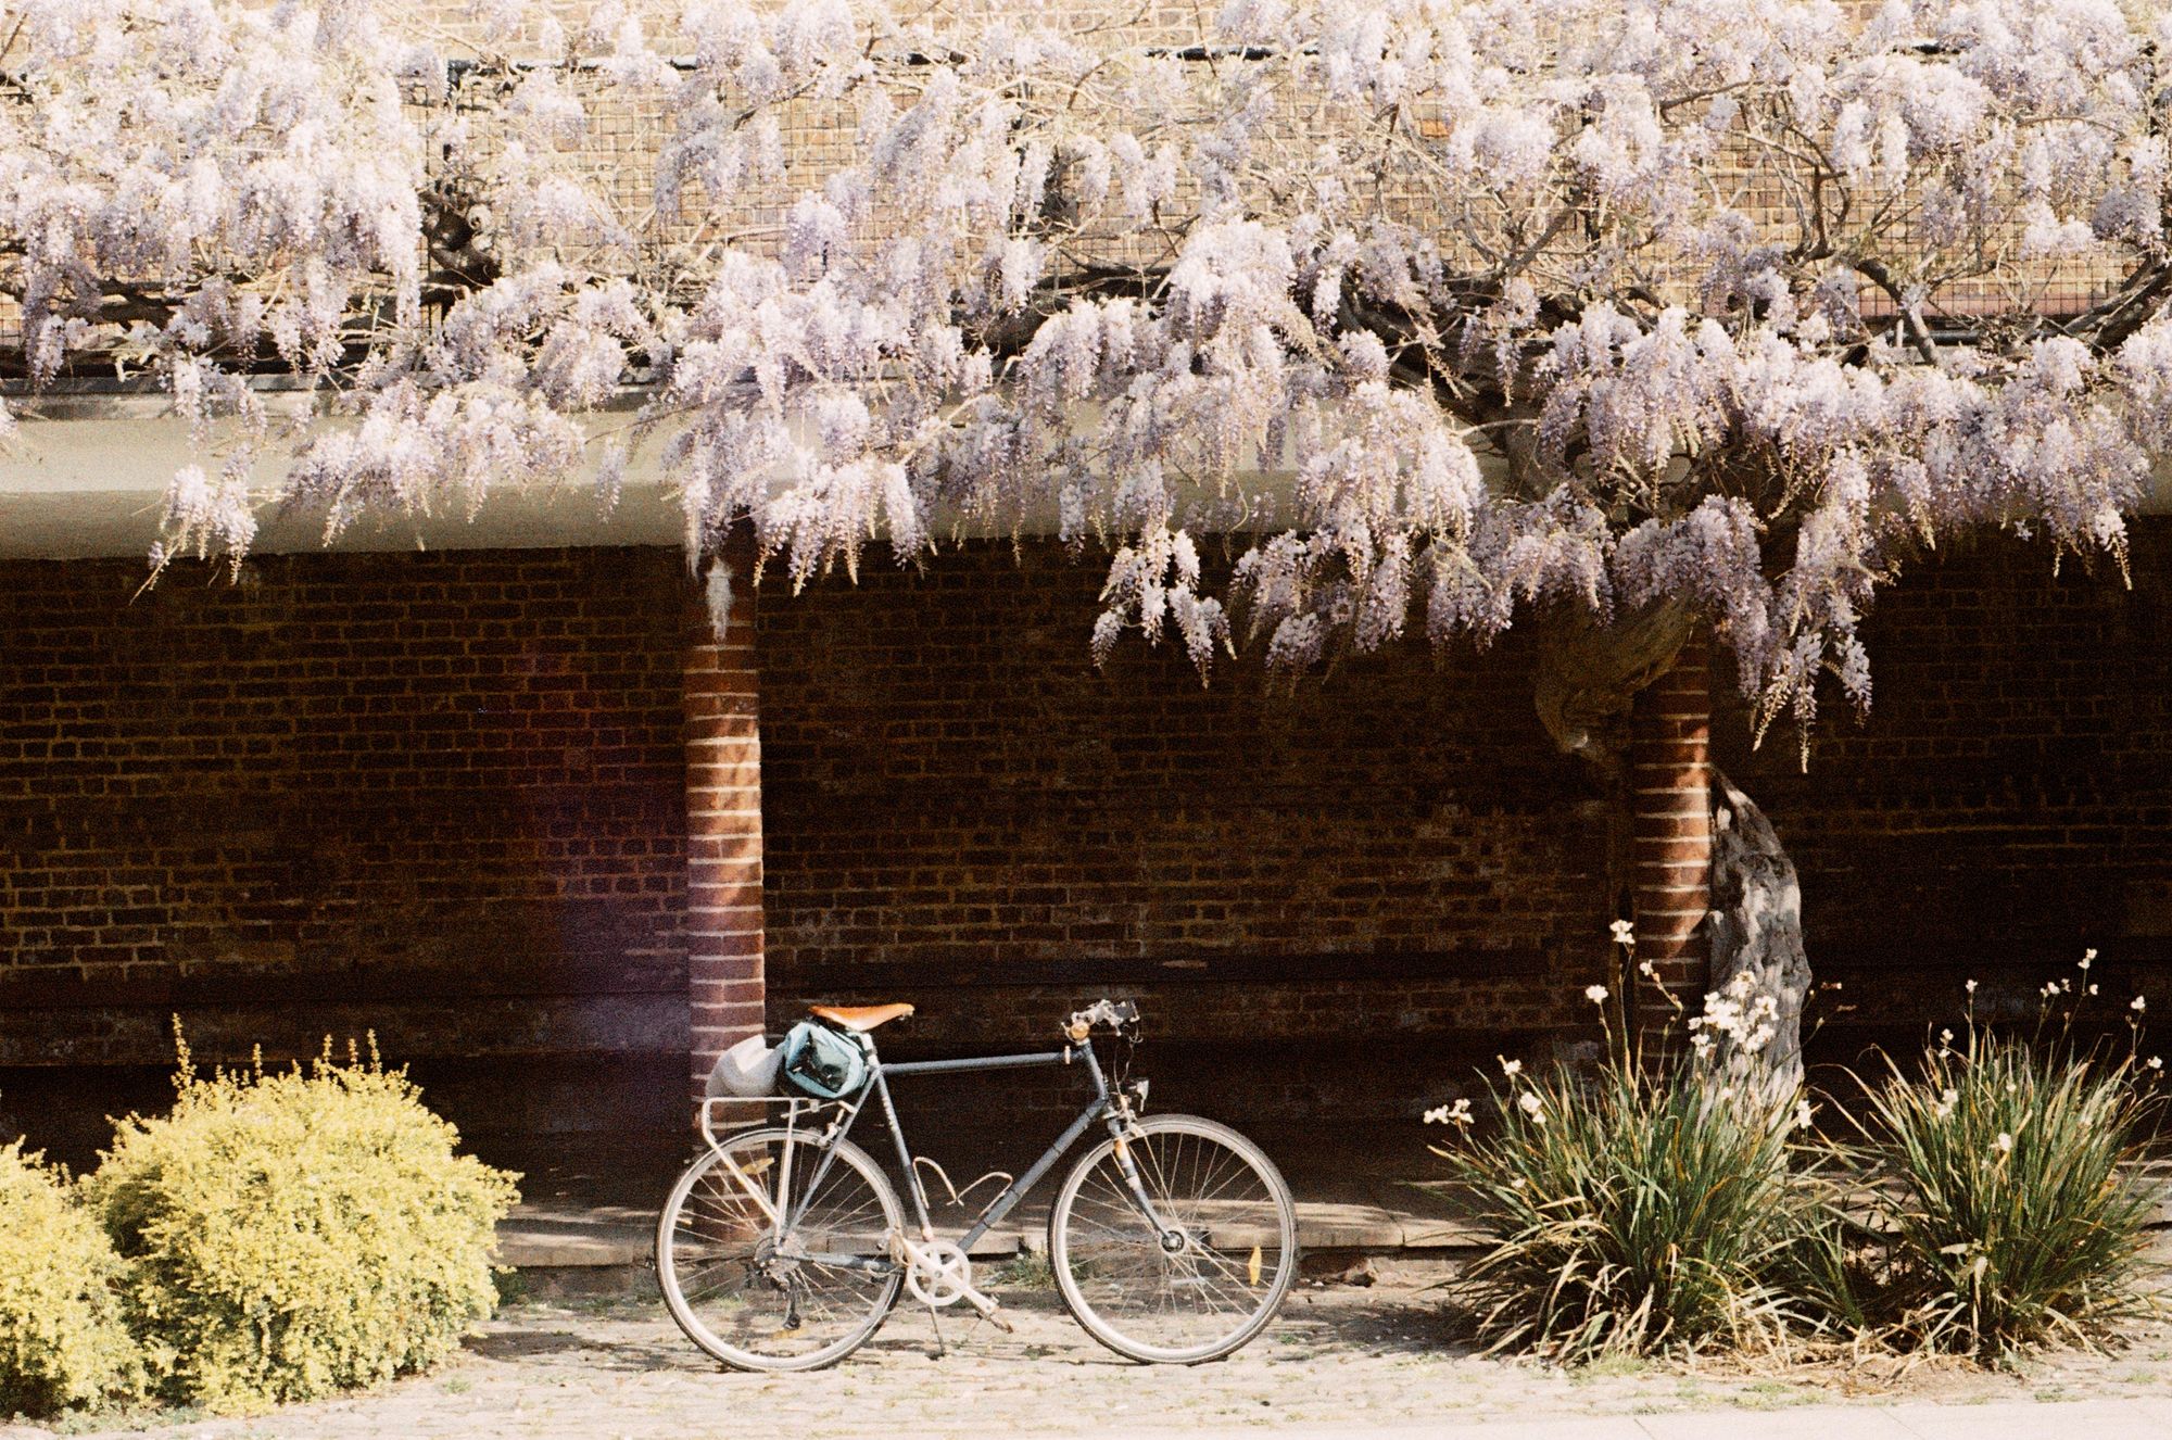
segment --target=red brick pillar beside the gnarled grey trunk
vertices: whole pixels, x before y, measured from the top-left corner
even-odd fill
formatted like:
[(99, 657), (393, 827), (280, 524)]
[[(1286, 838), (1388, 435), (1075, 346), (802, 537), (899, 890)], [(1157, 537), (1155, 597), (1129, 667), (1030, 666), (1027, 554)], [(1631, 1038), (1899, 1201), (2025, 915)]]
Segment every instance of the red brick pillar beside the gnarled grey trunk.
[[(1712, 908), (1712, 682), (1703, 636), (1642, 689), (1629, 717), (1629, 867), (1638, 964), (1651, 962), (1688, 1014), (1712, 980), (1705, 912)], [(1638, 1023), (1681, 1021), (1638, 975)]]

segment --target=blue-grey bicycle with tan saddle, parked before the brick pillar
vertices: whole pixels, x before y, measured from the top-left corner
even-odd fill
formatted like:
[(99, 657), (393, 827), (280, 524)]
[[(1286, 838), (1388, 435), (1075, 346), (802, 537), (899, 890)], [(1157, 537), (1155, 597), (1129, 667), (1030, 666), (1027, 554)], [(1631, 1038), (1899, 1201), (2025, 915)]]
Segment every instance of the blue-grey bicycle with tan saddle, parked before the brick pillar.
[[(882, 1064), (871, 1032), (912, 1006), (815, 1006), (812, 1014), (862, 1038), (867, 1082), (836, 1101), (788, 1099), (782, 1125), (723, 1134), (715, 1116), (730, 1101), (704, 1101), (706, 1149), (656, 1221), (665, 1308), (708, 1355), (741, 1370), (830, 1366), (882, 1327), (901, 1292), (930, 1310), (962, 1301), (1010, 1329), (997, 1301), (973, 1286), (967, 1251), (1095, 1123), (1108, 1136), (1064, 1175), (1047, 1234), (1056, 1288), (1086, 1334), (1129, 1360), (1201, 1364), (1275, 1318), (1297, 1277), (1290, 1188), (1227, 1125), (1142, 1114), (1147, 1082), (1129, 1077), (1138, 1006), (1103, 999), (1075, 1012), (1056, 1051), (904, 1064)], [(1116, 1040), (1110, 1071), (1095, 1053), (1103, 1030)], [(1077, 1064), (1093, 1097), (958, 1240), (938, 1240), (888, 1079), (1056, 1064)], [(849, 1138), (871, 1099), (906, 1175), (910, 1229), (897, 1190)]]

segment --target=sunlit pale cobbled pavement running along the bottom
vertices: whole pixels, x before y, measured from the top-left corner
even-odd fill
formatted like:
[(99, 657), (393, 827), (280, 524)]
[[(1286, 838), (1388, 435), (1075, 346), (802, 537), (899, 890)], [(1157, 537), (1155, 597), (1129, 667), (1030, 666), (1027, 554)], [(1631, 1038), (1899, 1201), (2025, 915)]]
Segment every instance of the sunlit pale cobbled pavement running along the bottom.
[[(1453, 1338), (1434, 1292), (1384, 1284), (1303, 1288), (1290, 1297), (1275, 1329), (1236, 1357), (1197, 1368), (1145, 1368), (1088, 1340), (1053, 1294), (1008, 1292), (1003, 1299), (1019, 1325), (1014, 1336), (947, 1318), (949, 1353), (936, 1357), (927, 1312), (901, 1308), (841, 1366), (778, 1377), (715, 1368), (680, 1338), (660, 1305), (645, 1299), (519, 1303), (471, 1340), (460, 1360), (428, 1377), (252, 1420), (167, 1414), (139, 1418), (137, 1425), (152, 1420), (146, 1429), (98, 1433), (202, 1440), (851, 1433), (906, 1440), (1440, 1420), (1462, 1427), (1833, 1401), (1857, 1403), (1855, 1414), (1868, 1423), (1874, 1418), (1870, 1403), (2172, 1394), (2168, 1327), (2146, 1331), (2120, 1355), (2061, 1355), (2020, 1377), (1935, 1366), (1898, 1379), (1842, 1366), (1755, 1373), (1625, 1364), (1562, 1373), (1477, 1357)], [(1757, 1420), (1744, 1433), (1761, 1431), (1772, 1425)], [(0, 1427), (4, 1440), (33, 1433)], [(1820, 1436), (1833, 1440), (1822, 1427)]]

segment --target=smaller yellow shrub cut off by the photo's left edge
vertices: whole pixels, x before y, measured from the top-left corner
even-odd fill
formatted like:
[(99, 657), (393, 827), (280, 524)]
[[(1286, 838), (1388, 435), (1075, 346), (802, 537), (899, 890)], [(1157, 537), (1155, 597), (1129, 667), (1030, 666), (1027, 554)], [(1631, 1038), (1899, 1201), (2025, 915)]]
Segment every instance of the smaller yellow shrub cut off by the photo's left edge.
[(67, 1175), (0, 1147), (0, 1416), (141, 1394), (124, 1268)]

